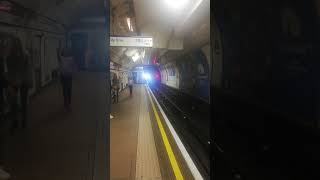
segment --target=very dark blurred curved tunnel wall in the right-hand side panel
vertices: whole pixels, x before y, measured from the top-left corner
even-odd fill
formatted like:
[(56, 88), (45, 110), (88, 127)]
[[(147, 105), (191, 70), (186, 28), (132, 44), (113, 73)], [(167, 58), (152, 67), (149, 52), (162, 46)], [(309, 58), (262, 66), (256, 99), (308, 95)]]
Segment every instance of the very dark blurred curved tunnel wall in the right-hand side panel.
[(223, 91), (290, 121), (313, 124), (319, 29), (313, 2), (246, 0), (246, 11), (232, 2), (214, 5), (224, 51)]

